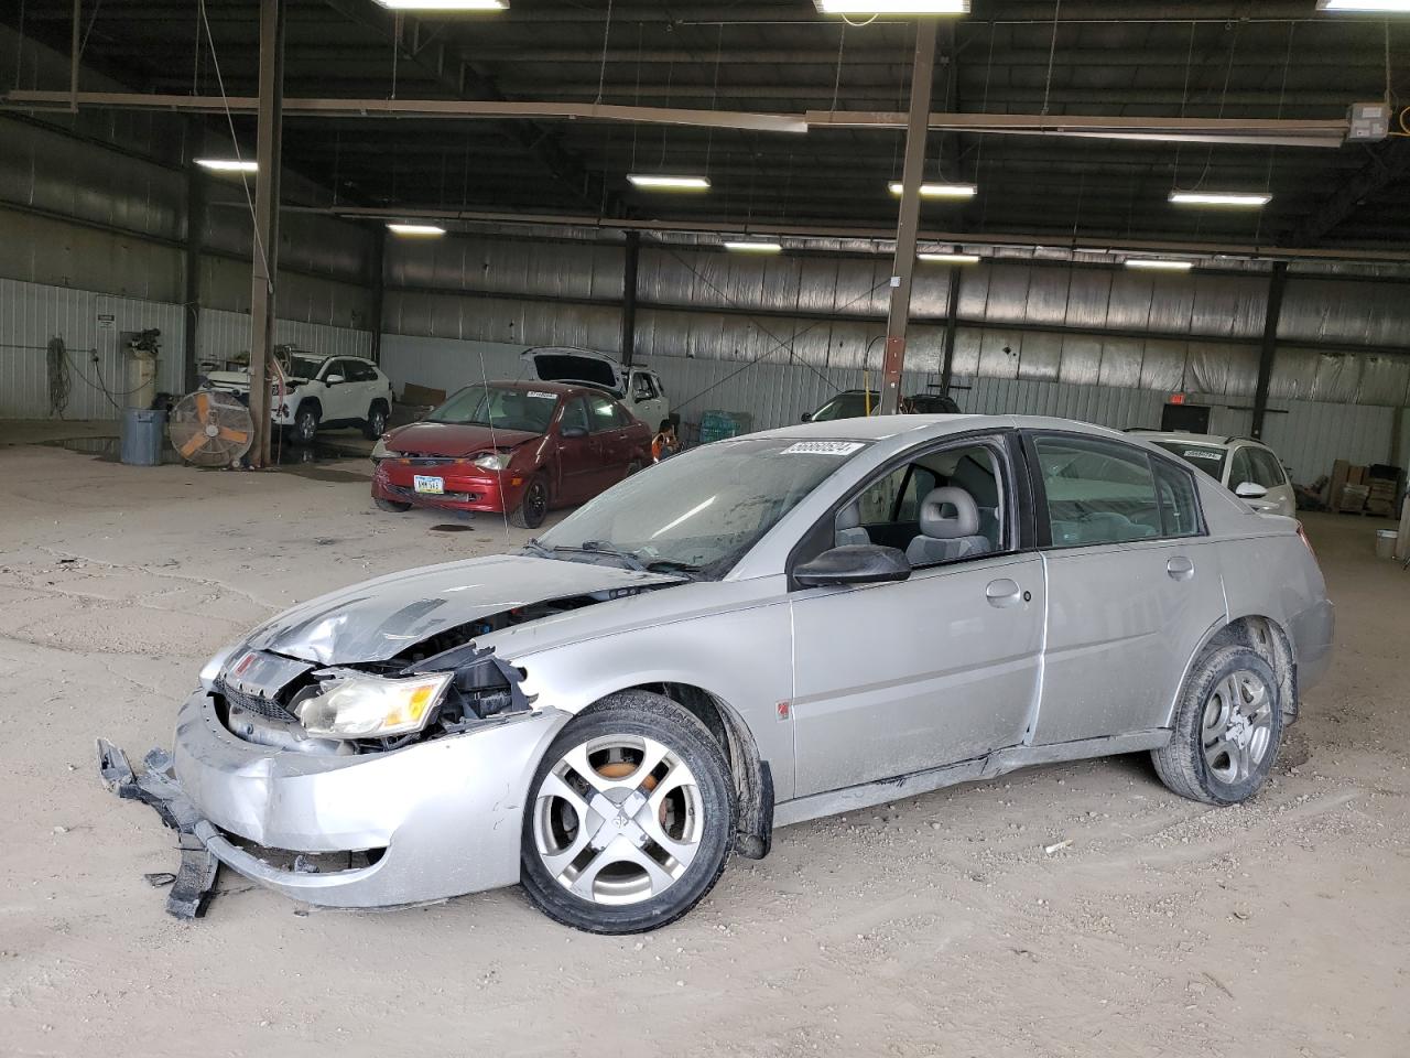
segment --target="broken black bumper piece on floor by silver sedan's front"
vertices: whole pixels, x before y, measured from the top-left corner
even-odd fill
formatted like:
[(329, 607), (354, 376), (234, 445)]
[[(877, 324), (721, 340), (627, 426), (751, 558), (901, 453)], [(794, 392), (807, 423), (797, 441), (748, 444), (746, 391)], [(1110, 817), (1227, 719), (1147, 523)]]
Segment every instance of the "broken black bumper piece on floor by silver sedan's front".
[(200, 918), (210, 903), (220, 861), (192, 829), (200, 817), (171, 776), (171, 755), (165, 749), (154, 749), (142, 763), (147, 770), (137, 776), (127, 753), (107, 739), (97, 741), (97, 769), (103, 784), (124, 800), (149, 804), (162, 822), (179, 834), (180, 866), (166, 894), (166, 913), (182, 920)]

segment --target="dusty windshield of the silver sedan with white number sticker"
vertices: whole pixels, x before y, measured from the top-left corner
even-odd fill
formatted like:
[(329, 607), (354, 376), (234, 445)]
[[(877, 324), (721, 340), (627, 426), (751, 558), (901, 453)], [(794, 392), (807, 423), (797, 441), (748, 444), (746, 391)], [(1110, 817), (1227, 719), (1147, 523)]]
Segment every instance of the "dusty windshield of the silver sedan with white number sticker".
[(781, 437), (705, 444), (613, 485), (539, 543), (565, 549), (554, 557), (622, 552), (646, 568), (722, 577), (864, 447)]

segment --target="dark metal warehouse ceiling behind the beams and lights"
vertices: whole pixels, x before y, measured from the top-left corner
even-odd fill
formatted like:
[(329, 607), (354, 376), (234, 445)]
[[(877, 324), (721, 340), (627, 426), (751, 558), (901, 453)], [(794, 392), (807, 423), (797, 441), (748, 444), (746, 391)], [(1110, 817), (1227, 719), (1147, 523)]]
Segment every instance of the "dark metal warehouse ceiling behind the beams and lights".
[[(936, 111), (1342, 118), (1410, 97), (1410, 21), (1321, 16), (1314, 0), (973, 0), (940, 28)], [(255, 95), (258, 4), (86, 0), (85, 68), (137, 92)], [(23, 16), (21, 13), (23, 11)], [(7, 7), (68, 52), (70, 13)], [(23, 23), (21, 23), (23, 17)], [(914, 27), (846, 24), (812, 0), (512, 0), (478, 16), (393, 16), (372, 0), (289, 0), (288, 97), (495, 99), (802, 114), (904, 110)], [(212, 48), (212, 42), (214, 48)], [(1389, 58), (1389, 72), (1387, 72)], [(66, 85), (35, 87), (66, 89)], [(235, 116), (252, 151), (254, 120)], [(210, 118), (210, 127), (223, 118)], [(564, 120), (288, 117), (285, 164), (323, 202), (572, 217), (885, 229), (901, 130), (743, 133)], [(1385, 247), (1410, 240), (1410, 140), (1335, 150), (932, 131), (926, 178), (979, 185), (926, 202), (931, 231)], [(708, 175), (647, 193), (627, 172)], [(1270, 192), (1262, 210), (1172, 189)]]

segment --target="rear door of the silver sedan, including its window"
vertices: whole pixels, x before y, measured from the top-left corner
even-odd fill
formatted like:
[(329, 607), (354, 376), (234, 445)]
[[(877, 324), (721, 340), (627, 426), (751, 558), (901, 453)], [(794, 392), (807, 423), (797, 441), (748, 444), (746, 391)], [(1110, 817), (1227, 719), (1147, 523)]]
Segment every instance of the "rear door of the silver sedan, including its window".
[(1032, 742), (1165, 726), (1197, 646), (1225, 616), (1194, 471), (1122, 442), (1028, 437), (1048, 574)]

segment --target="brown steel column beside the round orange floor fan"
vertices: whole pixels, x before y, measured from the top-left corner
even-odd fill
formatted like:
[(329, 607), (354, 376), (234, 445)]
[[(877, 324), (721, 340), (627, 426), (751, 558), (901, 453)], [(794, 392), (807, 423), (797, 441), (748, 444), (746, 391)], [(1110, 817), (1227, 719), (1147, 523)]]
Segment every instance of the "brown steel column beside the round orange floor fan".
[(250, 461), (269, 464), (269, 382), (279, 274), (279, 141), (283, 123), (283, 0), (259, 0), (259, 128), (255, 142), (254, 281), (250, 291)]

